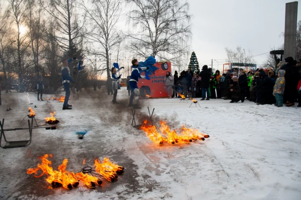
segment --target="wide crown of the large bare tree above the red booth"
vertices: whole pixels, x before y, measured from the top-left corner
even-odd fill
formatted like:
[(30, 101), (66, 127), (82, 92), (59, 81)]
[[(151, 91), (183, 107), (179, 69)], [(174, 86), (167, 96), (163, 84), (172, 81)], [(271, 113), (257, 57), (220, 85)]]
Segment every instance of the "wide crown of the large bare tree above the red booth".
[[(135, 32), (130, 32), (129, 50), (137, 56), (166, 59), (170, 55), (185, 55), (190, 39), (189, 4), (182, 0), (126, 0), (132, 7), (128, 20)], [(132, 29), (132, 28), (130, 28)]]

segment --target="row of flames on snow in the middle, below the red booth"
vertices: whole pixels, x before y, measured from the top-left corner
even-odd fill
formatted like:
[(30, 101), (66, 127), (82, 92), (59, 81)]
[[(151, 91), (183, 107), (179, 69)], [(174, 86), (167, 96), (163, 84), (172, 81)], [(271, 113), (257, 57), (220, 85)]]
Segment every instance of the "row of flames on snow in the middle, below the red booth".
[(170, 130), (169, 125), (165, 121), (160, 121), (161, 127), (159, 128), (159, 133), (154, 125), (148, 120), (144, 120), (144, 124), (142, 124), (141, 128), (146, 136), (153, 141), (155, 144), (163, 144), (163, 142), (168, 142), (169, 144), (175, 143), (190, 143), (196, 140), (205, 140), (205, 138), (209, 138), (209, 135), (205, 135), (200, 133), (196, 129), (187, 128), (184, 125), (180, 129), (180, 133), (178, 134), (176, 130)]

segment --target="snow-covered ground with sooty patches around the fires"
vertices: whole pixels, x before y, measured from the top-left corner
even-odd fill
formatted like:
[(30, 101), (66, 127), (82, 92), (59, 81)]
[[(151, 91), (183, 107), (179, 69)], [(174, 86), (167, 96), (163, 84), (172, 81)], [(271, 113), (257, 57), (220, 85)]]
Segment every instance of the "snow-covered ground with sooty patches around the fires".
[[(132, 128), (126, 88), (117, 95), (119, 105), (113, 105), (113, 97), (105, 91), (82, 91), (79, 100), (71, 96), (71, 111), (63, 111), (59, 102), (39, 102), (36, 94), (2, 93), (1, 98), (4, 128), (26, 127), (20, 122), (34, 105), (38, 124), (51, 111), (56, 111), (60, 123), (57, 130), (34, 130), (27, 147), (0, 148), (0, 199), (301, 199), (301, 109), (297, 107), (210, 100), (199, 101), (201, 108), (188, 108), (190, 100), (140, 100), (143, 109), (136, 114), (140, 120), (149, 106), (155, 108), (155, 122), (165, 119), (172, 128), (188, 124), (210, 135), (205, 141), (158, 146), (142, 130)], [(13, 110), (6, 111), (8, 107)], [(89, 132), (78, 140), (75, 131), (81, 130)], [(28, 138), (26, 131), (6, 135), (8, 140)], [(45, 177), (26, 174), (44, 154), (54, 155), (54, 169), (67, 158), (67, 170), (74, 172), (80, 171), (84, 158), (93, 165), (94, 158), (107, 156), (125, 167), (125, 173), (116, 182), (104, 180), (95, 190), (82, 183), (72, 190), (48, 189)]]

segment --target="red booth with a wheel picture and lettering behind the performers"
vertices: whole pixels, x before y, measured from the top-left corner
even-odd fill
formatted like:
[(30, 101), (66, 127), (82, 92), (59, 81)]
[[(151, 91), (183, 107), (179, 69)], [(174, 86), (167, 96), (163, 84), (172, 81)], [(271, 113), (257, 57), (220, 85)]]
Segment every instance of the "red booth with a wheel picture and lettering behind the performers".
[[(155, 71), (155, 75), (151, 75), (151, 80), (140, 79), (138, 81), (138, 87), (140, 89), (140, 96), (146, 98), (146, 95), (150, 95), (152, 98), (164, 98), (168, 97), (165, 86), (166, 72), (171, 72), (170, 62), (156, 62), (153, 66), (159, 69)], [(142, 73), (141, 75), (145, 75)]]

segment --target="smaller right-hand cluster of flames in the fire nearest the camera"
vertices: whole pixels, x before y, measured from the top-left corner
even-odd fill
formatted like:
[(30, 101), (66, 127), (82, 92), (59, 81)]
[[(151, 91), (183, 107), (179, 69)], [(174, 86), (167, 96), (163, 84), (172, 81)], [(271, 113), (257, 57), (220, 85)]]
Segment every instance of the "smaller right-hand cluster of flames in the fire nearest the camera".
[(108, 181), (114, 181), (118, 178), (116, 174), (123, 173), (122, 166), (110, 162), (110, 159), (106, 157), (102, 161), (96, 159), (94, 161), (94, 167), (95, 171), (101, 174)]

